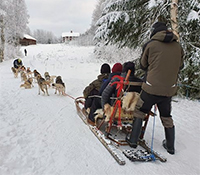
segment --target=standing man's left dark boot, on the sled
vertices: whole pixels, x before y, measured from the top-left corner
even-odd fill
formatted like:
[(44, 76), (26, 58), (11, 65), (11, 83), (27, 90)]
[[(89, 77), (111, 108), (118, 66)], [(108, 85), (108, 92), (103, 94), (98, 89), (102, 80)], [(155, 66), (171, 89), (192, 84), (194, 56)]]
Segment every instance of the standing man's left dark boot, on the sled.
[(137, 142), (141, 133), (142, 129), (142, 119), (141, 118), (135, 118), (132, 124), (132, 131), (130, 137), (126, 137), (126, 141), (129, 144), (130, 147), (136, 148)]

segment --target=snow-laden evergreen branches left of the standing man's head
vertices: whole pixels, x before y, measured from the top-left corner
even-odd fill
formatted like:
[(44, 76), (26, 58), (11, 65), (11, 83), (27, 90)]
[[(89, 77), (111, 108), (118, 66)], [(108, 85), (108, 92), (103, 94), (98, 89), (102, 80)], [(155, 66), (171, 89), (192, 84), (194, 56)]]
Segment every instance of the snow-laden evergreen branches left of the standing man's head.
[(159, 1), (154, 5), (150, 0), (107, 1), (95, 38), (104, 39), (106, 44), (118, 44), (120, 47), (136, 48), (146, 42), (150, 34), (150, 26), (158, 16), (165, 14), (168, 2)]

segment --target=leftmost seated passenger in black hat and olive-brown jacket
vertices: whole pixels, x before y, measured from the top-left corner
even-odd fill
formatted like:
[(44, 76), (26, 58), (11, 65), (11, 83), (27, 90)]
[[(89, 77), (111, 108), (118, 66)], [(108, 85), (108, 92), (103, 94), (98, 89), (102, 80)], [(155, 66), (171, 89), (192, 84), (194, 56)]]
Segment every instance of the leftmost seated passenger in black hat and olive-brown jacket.
[(90, 108), (92, 105), (93, 98), (89, 96), (98, 95), (102, 83), (108, 79), (110, 74), (110, 65), (104, 63), (100, 69), (100, 75), (97, 76), (97, 79), (92, 81), (83, 91), (85, 98), (85, 109)]

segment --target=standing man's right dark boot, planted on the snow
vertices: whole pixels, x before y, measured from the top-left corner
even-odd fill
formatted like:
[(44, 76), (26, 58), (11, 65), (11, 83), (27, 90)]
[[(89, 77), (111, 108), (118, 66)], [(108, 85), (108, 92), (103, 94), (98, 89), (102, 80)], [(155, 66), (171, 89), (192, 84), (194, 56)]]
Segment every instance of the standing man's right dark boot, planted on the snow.
[(175, 127), (165, 128), (165, 140), (163, 140), (163, 147), (169, 154), (175, 154), (174, 140), (175, 140)]

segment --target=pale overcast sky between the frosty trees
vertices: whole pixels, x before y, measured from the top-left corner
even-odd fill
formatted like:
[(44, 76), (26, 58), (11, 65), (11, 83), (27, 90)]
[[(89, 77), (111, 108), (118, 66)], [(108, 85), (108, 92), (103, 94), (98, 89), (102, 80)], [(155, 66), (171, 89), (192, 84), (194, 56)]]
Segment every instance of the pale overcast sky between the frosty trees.
[(84, 33), (90, 28), (97, 0), (25, 0), (29, 28), (42, 29), (60, 37), (71, 30)]

